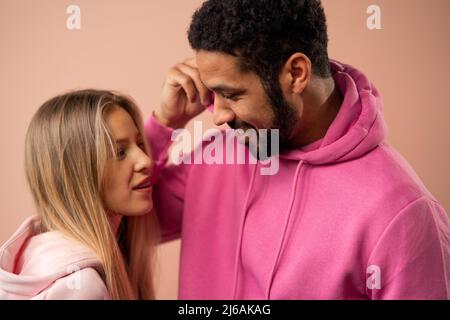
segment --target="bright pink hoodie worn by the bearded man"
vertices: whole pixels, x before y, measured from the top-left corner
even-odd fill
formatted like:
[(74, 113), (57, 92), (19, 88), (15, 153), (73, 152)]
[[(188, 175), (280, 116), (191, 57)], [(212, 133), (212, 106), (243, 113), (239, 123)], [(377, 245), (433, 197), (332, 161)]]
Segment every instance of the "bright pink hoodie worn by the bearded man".
[(377, 89), (331, 66), (336, 119), (282, 154), (276, 175), (261, 163), (165, 166), (172, 130), (146, 123), (163, 238), (182, 239), (180, 299), (450, 298), (448, 216), (385, 142)]

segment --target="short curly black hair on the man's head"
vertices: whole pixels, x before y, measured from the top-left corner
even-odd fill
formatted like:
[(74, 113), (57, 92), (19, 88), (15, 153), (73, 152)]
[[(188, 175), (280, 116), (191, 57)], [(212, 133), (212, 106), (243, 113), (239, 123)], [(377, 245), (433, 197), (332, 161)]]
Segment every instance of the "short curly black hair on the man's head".
[(320, 0), (208, 0), (194, 13), (188, 38), (194, 50), (238, 57), (266, 85), (296, 52), (311, 60), (315, 75), (330, 76)]

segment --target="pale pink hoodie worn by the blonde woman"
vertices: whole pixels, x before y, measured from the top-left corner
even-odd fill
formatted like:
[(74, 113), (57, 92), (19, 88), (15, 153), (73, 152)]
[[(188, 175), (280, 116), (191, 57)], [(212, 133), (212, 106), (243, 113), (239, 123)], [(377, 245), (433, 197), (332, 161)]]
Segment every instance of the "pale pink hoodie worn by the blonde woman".
[(108, 299), (90, 249), (28, 218), (0, 248), (0, 300)]

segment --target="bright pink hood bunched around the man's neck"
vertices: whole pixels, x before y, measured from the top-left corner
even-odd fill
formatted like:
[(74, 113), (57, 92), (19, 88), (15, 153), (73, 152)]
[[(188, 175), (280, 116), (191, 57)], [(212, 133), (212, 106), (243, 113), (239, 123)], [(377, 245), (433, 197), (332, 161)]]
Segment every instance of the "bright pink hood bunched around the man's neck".
[(280, 158), (310, 164), (330, 164), (358, 158), (378, 146), (387, 135), (383, 102), (378, 90), (359, 70), (330, 60), (336, 87), (343, 96), (341, 108), (320, 146), (291, 150)]

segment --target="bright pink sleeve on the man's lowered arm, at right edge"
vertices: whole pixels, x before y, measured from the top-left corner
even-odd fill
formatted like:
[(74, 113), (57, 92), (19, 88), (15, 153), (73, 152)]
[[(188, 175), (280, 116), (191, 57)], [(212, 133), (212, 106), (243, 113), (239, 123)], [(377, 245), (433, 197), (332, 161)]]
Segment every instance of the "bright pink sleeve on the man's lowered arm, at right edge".
[(450, 225), (427, 197), (404, 208), (382, 233), (367, 265), (370, 299), (450, 299)]

